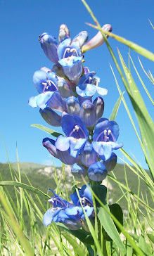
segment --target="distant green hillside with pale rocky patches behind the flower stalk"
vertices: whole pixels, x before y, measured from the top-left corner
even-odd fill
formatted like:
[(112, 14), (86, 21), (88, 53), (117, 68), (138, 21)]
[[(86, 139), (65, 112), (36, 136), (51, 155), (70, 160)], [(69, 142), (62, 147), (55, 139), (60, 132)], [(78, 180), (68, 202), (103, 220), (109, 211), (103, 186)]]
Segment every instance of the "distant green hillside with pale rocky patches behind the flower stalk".
[[(17, 173), (18, 176), (18, 166), (16, 163), (11, 164), (12, 167), (12, 173), (13, 173), (13, 179), (16, 176), (15, 172)], [(131, 171), (127, 166), (125, 166), (126, 173), (127, 173), (127, 182), (128, 186), (133, 191), (134, 193), (138, 193), (138, 178), (136, 177), (136, 174)], [(48, 188), (52, 188), (53, 190), (56, 189), (56, 182), (55, 182), (55, 171), (53, 167), (47, 167), (44, 165), (39, 165), (39, 164), (34, 164), (31, 162), (20, 162), (20, 170), (21, 170), (21, 180), (24, 184), (29, 184), (27, 181), (27, 178), (30, 180), (32, 186), (35, 188), (39, 188), (41, 191), (44, 191), (44, 193), (48, 193)], [(27, 174), (27, 178), (25, 177), (24, 172)], [(58, 181), (61, 178), (60, 186), (63, 188), (64, 186), (64, 180), (63, 177), (61, 177), (62, 169), (60, 167), (56, 168), (57, 172), (57, 177)], [(148, 171), (147, 171), (148, 172)], [(112, 175), (111, 172), (109, 172), (110, 175)], [(117, 164), (115, 169), (114, 169), (114, 174), (117, 177), (118, 181), (122, 182), (122, 184), (126, 185), (126, 181), (124, 178), (124, 165)], [(72, 174), (70, 173), (70, 166), (65, 167), (65, 176), (66, 176), (66, 183), (68, 186), (68, 191), (69, 194), (72, 193), (71, 191), (71, 184), (72, 184)], [(3, 164), (0, 163), (0, 179), (1, 180), (12, 180), (11, 178), (11, 172), (9, 169), (8, 164)], [(15, 180), (15, 179), (14, 179)], [(81, 180), (78, 180), (81, 181)], [(108, 182), (107, 187), (108, 187), (108, 202), (109, 203), (116, 203), (117, 200), (119, 200), (122, 197), (122, 191), (120, 187), (112, 181), (110, 178), (105, 179), (103, 181), (103, 184), (106, 186), (106, 182)], [(80, 184), (81, 186), (83, 185), (83, 182)], [(8, 191), (11, 192), (13, 200), (15, 200), (15, 193), (14, 193), (14, 188), (12, 186), (8, 186)], [(64, 188), (65, 189), (65, 188)], [(124, 191), (126, 192), (126, 191)], [(51, 192), (49, 192), (51, 195)], [(148, 203), (149, 205), (152, 206), (152, 199), (150, 196), (150, 192), (148, 191), (148, 188), (146, 184), (144, 184), (143, 181), (141, 181), (140, 185), (140, 197), (146, 199), (146, 194), (148, 196)], [(127, 196), (127, 193), (126, 193)], [(42, 200), (42, 199), (41, 199)], [(46, 207), (46, 200), (42, 200), (43, 205)], [(122, 207), (125, 212), (127, 212), (127, 200), (126, 198), (120, 199), (118, 202), (120, 206)], [(146, 213), (144, 207), (143, 207), (143, 212)]]

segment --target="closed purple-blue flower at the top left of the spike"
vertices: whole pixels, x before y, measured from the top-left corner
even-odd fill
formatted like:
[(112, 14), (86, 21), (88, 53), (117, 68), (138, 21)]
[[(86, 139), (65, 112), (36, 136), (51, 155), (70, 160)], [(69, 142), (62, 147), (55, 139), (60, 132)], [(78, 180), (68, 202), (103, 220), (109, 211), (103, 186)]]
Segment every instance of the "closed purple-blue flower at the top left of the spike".
[(41, 48), (44, 50), (46, 57), (49, 58), (53, 63), (58, 64), (58, 44), (56, 38), (52, 37), (51, 34), (44, 32), (39, 36)]

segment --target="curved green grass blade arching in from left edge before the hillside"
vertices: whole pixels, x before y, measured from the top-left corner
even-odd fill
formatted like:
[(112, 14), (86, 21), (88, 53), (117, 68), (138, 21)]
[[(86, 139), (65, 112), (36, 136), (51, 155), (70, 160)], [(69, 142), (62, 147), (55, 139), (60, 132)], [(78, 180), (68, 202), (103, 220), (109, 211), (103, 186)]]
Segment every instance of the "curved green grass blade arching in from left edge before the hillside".
[(23, 184), (17, 181), (0, 181), (0, 186), (19, 186), (20, 188), (25, 188), (26, 190), (41, 196), (41, 198), (44, 198), (45, 200), (49, 200), (50, 198), (38, 188), (34, 188), (34, 186), (29, 186), (27, 184)]

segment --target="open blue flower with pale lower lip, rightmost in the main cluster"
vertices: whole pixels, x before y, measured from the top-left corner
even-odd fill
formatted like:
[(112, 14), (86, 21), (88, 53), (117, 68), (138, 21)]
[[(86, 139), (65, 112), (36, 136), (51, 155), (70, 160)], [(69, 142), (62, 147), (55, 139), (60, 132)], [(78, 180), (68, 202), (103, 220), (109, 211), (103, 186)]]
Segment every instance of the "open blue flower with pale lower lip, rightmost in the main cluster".
[(117, 143), (120, 129), (115, 121), (100, 118), (96, 122), (92, 146), (99, 157), (106, 161), (110, 158), (113, 149), (122, 148), (122, 143)]

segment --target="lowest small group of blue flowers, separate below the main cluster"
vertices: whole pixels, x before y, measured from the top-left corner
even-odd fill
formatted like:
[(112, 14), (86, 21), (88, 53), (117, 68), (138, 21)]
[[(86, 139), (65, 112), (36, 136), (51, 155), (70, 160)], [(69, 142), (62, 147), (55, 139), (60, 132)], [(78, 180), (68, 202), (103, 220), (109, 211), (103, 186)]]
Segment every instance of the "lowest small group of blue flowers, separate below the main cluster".
[[(85, 217), (77, 193), (75, 192), (70, 196), (74, 205), (63, 198), (60, 198), (55, 192), (53, 192), (53, 194), (54, 197), (49, 199), (52, 208), (47, 210), (44, 215), (44, 225), (48, 226), (51, 222), (61, 222), (70, 230), (80, 229)], [(86, 186), (82, 186), (82, 189), (79, 190), (79, 196), (81, 197), (86, 215), (88, 217), (94, 217), (94, 207), (90, 189)]]

